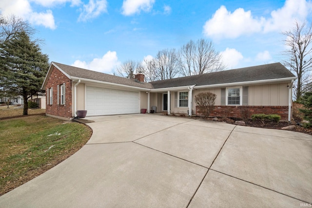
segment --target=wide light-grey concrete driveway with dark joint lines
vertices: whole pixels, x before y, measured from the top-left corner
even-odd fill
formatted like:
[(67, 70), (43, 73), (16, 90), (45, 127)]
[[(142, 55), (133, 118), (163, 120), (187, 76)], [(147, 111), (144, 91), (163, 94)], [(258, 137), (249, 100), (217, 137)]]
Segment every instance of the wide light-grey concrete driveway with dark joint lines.
[(0, 197), (14, 207), (307, 207), (312, 136), (131, 114), (87, 117), (70, 158)]

